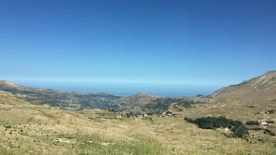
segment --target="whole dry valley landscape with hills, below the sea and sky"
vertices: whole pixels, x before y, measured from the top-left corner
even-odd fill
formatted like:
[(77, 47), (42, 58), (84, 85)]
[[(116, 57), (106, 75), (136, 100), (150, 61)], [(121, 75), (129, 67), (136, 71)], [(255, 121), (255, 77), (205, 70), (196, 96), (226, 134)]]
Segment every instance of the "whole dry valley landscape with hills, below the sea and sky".
[[(0, 154), (275, 154), (275, 77), (269, 71), (209, 96), (174, 98), (1, 81)], [(235, 123), (222, 120), (246, 134), (235, 136)]]

